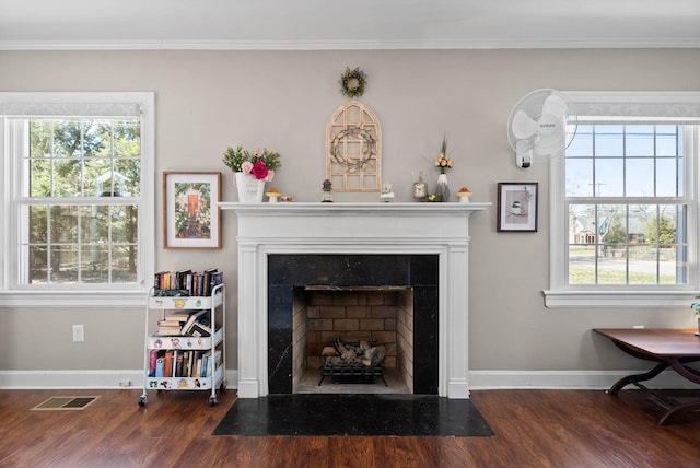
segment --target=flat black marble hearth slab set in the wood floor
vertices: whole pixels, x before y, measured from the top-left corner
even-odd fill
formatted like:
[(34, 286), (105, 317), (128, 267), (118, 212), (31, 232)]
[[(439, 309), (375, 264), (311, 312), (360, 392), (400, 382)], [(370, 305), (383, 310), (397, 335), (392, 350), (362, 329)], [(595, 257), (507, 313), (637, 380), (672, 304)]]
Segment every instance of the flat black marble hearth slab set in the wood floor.
[(213, 435), (490, 437), (466, 399), (433, 395), (270, 395), (237, 399)]

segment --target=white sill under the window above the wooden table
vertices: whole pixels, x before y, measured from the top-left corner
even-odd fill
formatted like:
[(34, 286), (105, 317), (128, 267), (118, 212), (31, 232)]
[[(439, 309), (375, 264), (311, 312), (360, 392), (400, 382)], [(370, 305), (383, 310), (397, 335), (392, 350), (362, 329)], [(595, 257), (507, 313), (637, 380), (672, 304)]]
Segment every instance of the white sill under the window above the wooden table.
[(558, 307), (690, 307), (695, 291), (542, 291), (545, 306)]

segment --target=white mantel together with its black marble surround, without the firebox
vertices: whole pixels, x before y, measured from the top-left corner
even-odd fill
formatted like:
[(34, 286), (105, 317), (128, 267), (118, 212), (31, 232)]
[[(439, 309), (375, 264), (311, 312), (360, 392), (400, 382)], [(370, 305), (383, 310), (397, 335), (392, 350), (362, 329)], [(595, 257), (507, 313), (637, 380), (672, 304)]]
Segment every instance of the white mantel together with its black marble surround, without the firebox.
[[(432, 331), (419, 332), (422, 338), (413, 334), (413, 346), (431, 349), (413, 355), (432, 353), (427, 367), (434, 374), (423, 379), (415, 365), (413, 391), (468, 398), (469, 218), (489, 206), (220, 203), (237, 215), (238, 397), (292, 391), (294, 291), (330, 285), (412, 290), (413, 307), (432, 309), (420, 315), (435, 319), (427, 328)], [(277, 265), (308, 258), (320, 259), (323, 268), (292, 271)], [(390, 266), (382, 278), (377, 265)], [(436, 274), (424, 280), (421, 276), (431, 270)], [(424, 296), (433, 302), (425, 305)], [(430, 336), (429, 344), (421, 343)]]

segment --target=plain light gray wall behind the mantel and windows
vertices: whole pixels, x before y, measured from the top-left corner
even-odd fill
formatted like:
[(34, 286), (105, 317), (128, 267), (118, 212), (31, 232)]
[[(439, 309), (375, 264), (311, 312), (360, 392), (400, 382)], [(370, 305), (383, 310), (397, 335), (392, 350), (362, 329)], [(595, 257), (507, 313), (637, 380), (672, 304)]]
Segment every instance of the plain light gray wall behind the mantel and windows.
[[(466, 185), (493, 209), (471, 218), (470, 365), (474, 370), (630, 368), (594, 327), (690, 327), (688, 308), (548, 309), (548, 169), (513, 164), (505, 124), (539, 87), (576, 91), (700, 91), (700, 50), (420, 51), (0, 51), (0, 91), (154, 91), (156, 96), (156, 268), (218, 266), (229, 286), (229, 368), (236, 360), (236, 221), (223, 214), (222, 250), (165, 250), (163, 171), (223, 173), (228, 145), (282, 154), (273, 182), (299, 201), (317, 201), (325, 178), (325, 128), (346, 98), (346, 67), (369, 77), (362, 101), (383, 129), (383, 179), (397, 199), (431, 167), (446, 133), (453, 189)], [(498, 182), (538, 182), (539, 232), (497, 233)], [(336, 195), (336, 200), (352, 199)], [(137, 370), (143, 309), (0, 308), (0, 370)], [(85, 342), (71, 341), (72, 324)]]

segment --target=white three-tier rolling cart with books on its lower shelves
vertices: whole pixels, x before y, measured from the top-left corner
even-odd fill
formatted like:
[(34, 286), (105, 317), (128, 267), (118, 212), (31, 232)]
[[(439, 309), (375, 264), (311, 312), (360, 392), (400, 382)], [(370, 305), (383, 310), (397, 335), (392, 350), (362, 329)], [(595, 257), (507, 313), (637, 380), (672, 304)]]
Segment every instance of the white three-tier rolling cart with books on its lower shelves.
[(145, 375), (139, 405), (147, 403), (148, 390), (210, 391), (209, 405), (217, 405), (217, 387), (226, 388), (223, 284), (207, 296), (156, 292), (150, 291), (145, 311)]

